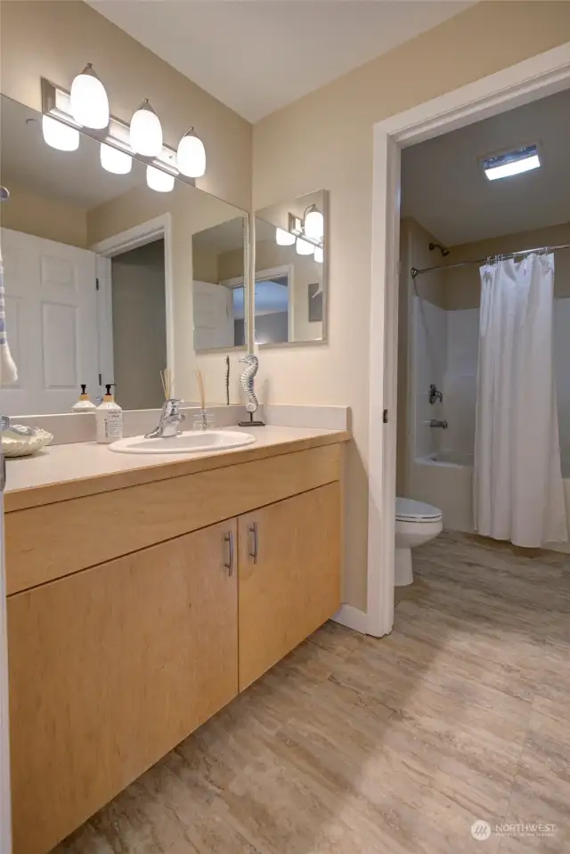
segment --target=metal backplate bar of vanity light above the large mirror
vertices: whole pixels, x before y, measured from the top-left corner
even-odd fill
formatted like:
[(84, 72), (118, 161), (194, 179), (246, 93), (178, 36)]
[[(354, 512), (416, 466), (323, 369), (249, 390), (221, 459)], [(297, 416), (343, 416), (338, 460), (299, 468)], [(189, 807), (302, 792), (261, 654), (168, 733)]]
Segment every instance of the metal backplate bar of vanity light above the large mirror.
[(169, 175), (175, 175), (175, 177), (180, 178), (185, 183), (191, 184), (192, 187), (196, 186), (196, 182), (193, 178), (182, 175), (176, 168), (176, 151), (175, 149), (170, 148), (169, 145), (163, 144), (162, 150), (155, 158), (147, 158), (143, 157), (141, 154), (135, 154), (131, 149), (129, 142), (129, 126), (122, 119), (117, 118), (116, 116), (111, 116), (109, 120), (109, 127), (102, 131), (94, 130), (91, 127), (77, 125), (77, 122), (71, 115), (69, 91), (64, 89), (62, 86), (55, 85), (50, 80), (46, 80), (45, 77), (41, 78), (41, 86), (42, 112), (46, 116), (57, 118), (59, 121), (63, 122), (63, 124), (76, 128), (82, 134), (91, 136), (93, 139), (97, 140), (97, 142), (105, 142), (112, 148), (116, 148), (119, 151), (125, 151), (130, 154), (133, 159), (141, 160), (142, 163), (145, 163), (147, 166), (150, 165), (157, 169), (162, 169)]

